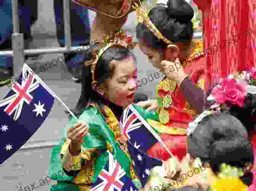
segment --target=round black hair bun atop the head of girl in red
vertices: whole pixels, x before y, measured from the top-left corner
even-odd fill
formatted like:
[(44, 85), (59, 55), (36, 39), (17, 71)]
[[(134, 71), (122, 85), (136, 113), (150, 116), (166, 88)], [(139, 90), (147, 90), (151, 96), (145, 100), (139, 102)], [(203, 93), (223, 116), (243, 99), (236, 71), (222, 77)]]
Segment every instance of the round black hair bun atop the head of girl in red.
[(179, 22), (189, 22), (194, 17), (192, 5), (185, 0), (169, 0), (167, 6), (169, 16)]

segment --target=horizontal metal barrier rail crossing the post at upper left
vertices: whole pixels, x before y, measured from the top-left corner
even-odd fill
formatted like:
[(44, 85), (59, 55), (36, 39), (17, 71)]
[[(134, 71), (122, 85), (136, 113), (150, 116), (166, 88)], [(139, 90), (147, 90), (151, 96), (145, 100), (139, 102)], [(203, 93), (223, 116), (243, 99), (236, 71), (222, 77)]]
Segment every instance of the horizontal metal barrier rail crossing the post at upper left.
[[(27, 50), (24, 50), (24, 55), (86, 52), (90, 48), (91, 48), (90, 46), (71, 46), (70, 49), (67, 49), (66, 47), (50, 48), (50, 49), (49, 48), (48, 49), (27, 49)], [(13, 51), (0, 51), (0, 55), (13, 56)]]

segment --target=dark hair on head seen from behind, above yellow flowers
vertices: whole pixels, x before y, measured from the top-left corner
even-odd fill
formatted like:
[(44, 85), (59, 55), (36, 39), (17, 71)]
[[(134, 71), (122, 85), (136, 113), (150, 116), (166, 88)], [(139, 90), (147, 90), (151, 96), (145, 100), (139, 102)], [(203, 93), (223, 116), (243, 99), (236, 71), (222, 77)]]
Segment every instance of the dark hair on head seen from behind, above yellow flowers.
[[(189, 153), (192, 158), (199, 157), (209, 163), (214, 173), (218, 173), (222, 163), (237, 168), (245, 168), (253, 164), (253, 148), (248, 140), (243, 124), (236, 117), (221, 113), (208, 115), (188, 136)], [(253, 180), (251, 171), (241, 177), (246, 185)]]

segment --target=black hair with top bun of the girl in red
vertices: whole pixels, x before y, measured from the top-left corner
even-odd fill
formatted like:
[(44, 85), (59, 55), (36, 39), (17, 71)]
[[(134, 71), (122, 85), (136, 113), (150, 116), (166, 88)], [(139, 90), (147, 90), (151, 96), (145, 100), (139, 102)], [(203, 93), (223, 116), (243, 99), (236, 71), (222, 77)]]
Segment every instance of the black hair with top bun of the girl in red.
[[(169, 0), (167, 6), (162, 4), (149, 11), (150, 21), (165, 38), (174, 43), (190, 43), (193, 37), (194, 9), (185, 0)], [(136, 38), (152, 49), (165, 49), (167, 44), (158, 39), (146, 25), (139, 23)]]

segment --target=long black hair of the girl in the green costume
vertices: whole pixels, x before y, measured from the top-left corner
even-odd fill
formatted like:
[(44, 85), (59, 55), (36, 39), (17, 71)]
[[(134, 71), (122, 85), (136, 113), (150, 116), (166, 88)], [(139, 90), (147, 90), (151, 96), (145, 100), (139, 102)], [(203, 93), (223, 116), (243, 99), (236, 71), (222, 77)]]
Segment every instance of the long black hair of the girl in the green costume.
[[(91, 53), (91, 57), (93, 54), (96, 54), (94, 51)], [(94, 71), (94, 78), (98, 82), (98, 85), (104, 83), (106, 79), (111, 77), (114, 73), (114, 66), (110, 66), (110, 62), (112, 60), (121, 61), (125, 58), (132, 56), (134, 61), (136, 62), (136, 58), (129, 49), (126, 49), (122, 46), (112, 46), (107, 49), (99, 58), (98, 63), (96, 65), (96, 69)], [(93, 62), (93, 59), (87, 62)], [(82, 93), (78, 100), (77, 106), (72, 111), (75, 115), (80, 115), (83, 110), (86, 109), (87, 103), (90, 101), (98, 102), (101, 97), (97, 92), (95, 92), (92, 88), (92, 73), (91, 66), (83, 66), (82, 72)]]

